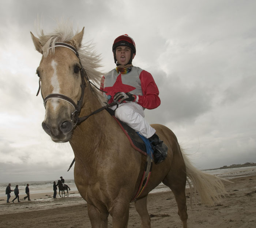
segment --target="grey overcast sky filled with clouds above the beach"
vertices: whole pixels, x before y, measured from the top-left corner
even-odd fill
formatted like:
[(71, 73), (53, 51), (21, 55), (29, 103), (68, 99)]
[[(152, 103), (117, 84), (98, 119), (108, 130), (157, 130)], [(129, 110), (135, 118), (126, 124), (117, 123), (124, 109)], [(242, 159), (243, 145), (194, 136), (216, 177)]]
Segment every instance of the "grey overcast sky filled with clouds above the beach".
[[(72, 2), (72, 3), (71, 3)], [(136, 43), (134, 66), (151, 72), (161, 106), (150, 123), (174, 131), (199, 169), (256, 162), (256, 1), (0, 0), (0, 182), (74, 178), (69, 143), (43, 131), (36, 97), (41, 54), (30, 31), (42, 17), (85, 27), (102, 71), (115, 67), (112, 44), (123, 34)]]

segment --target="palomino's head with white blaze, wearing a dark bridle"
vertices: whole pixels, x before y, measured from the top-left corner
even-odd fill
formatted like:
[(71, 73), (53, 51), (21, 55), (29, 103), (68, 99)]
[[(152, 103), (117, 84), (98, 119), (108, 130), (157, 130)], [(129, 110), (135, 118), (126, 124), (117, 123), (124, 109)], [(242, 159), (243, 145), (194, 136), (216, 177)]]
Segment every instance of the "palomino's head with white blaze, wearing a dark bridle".
[(83, 31), (64, 43), (57, 36), (38, 39), (31, 33), (35, 49), (42, 54), (37, 68), (46, 110), (42, 127), (54, 142), (69, 141), (76, 124), (74, 116), (80, 111), (77, 107), (83, 99), (84, 70), (77, 50)]

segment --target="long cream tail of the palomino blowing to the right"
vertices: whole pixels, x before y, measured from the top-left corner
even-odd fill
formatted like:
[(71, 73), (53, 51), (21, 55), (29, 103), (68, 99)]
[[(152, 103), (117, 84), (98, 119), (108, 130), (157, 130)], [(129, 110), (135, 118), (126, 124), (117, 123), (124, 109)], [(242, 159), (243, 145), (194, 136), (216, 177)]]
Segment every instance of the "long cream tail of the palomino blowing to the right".
[(191, 180), (193, 185), (192, 187), (187, 178), (191, 194), (195, 195), (195, 192), (197, 191), (202, 203), (207, 205), (213, 205), (215, 202), (219, 203), (221, 201), (221, 196), (227, 194), (222, 183), (224, 179), (196, 169), (182, 149), (181, 152), (186, 165), (187, 177)]

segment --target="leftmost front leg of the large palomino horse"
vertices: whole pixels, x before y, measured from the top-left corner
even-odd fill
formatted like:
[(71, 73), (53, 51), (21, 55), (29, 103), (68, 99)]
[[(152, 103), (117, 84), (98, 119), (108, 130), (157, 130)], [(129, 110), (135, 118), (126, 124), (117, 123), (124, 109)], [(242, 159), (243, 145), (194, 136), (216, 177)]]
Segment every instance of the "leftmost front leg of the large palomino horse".
[(105, 212), (99, 212), (93, 205), (87, 203), (88, 215), (91, 221), (92, 228), (107, 228), (108, 216), (107, 210)]

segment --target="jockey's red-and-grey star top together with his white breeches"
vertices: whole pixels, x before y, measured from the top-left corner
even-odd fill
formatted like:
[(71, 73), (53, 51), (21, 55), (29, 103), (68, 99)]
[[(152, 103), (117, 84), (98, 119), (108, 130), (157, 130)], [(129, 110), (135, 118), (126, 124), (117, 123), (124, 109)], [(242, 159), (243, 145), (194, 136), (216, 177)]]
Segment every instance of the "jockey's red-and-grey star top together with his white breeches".
[[(109, 103), (118, 92), (131, 93), (136, 96), (133, 102), (121, 103), (115, 112), (115, 117), (127, 123), (146, 138), (150, 138), (155, 129), (144, 119), (144, 109), (155, 109), (161, 103), (159, 91), (152, 75), (139, 67), (132, 67), (127, 74), (121, 74), (113, 69), (101, 79), (101, 90)], [(114, 110), (116, 107), (113, 106)]]

